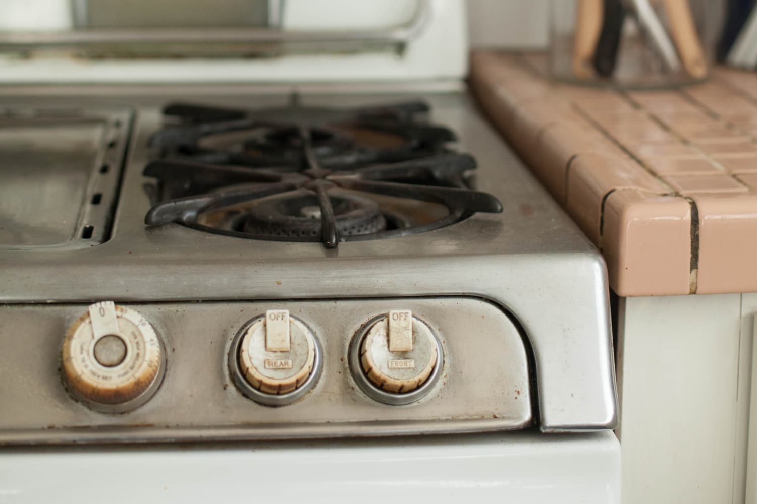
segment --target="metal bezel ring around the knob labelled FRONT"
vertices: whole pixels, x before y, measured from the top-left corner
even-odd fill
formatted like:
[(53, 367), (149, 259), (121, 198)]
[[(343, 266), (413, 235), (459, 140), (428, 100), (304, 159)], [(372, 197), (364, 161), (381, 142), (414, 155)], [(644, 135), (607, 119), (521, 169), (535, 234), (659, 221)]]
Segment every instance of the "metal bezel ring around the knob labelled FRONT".
[(390, 404), (392, 406), (411, 404), (416, 402), (417, 400), (420, 400), (422, 397), (425, 397), (429, 392), (431, 392), (431, 390), (433, 390), (433, 388), (435, 388), (435, 385), (437, 384), (439, 377), (441, 376), (441, 369), (444, 367), (444, 350), (438, 336), (434, 331), (431, 330), (428, 324), (424, 323), (418, 317), (413, 317), (416, 323), (422, 323), (425, 328), (428, 329), (428, 332), (431, 333), (431, 336), (434, 339), (437, 351), (437, 358), (434, 369), (431, 370), (431, 374), (428, 376), (425, 382), (423, 382), (418, 388), (415, 388), (412, 391), (396, 393), (378, 388), (378, 386), (375, 385), (368, 378), (368, 376), (366, 376), (366, 373), (363, 370), (363, 365), (360, 362), (360, 347), (363, 345), (363, 341), (366, 339), (373, 326), (384, 320), (385, 317), (386, 314), (381, 314), (373, 317), (371, 320), (365, 323), (365, 325), (363, 325), (360, 330), (358, 330), (353, 336), (347, 351), (350, 370), (352, 371), (352, 376), (355, 379), (355, 382), (357, 382), (357, 385), (360, 386), (360, 389), (372, 399), (384, 404)]

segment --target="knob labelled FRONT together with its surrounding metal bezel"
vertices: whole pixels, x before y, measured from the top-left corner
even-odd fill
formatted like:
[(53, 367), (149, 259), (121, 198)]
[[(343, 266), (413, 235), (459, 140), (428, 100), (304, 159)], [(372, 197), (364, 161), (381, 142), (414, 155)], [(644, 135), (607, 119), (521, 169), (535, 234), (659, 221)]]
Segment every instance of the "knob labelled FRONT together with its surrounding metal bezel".
[(356, 381), (366, 394), (386, 404), (409, 404), (428, 394), (443, 359), (434, 332), (411, 310), (375, 317), (350, 345)]

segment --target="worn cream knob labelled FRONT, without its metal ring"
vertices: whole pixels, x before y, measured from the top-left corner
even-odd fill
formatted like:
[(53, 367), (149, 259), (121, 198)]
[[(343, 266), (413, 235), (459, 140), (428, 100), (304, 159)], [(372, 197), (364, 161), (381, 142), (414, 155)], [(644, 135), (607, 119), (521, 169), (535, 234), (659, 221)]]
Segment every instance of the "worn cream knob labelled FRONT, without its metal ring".
[(410, 310), (392, 310), (369, 327), (360, 344), (360, 365), (373, 385), (405, 393), (423, 385), (438, 360), (431, 329)]

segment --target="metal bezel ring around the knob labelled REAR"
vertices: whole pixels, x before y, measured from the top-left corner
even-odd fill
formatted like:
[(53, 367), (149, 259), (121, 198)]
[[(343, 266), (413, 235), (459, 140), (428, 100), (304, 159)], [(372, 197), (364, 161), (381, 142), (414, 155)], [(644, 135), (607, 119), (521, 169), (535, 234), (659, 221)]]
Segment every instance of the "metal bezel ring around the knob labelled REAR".
[(298, 386), (293, 391), (285, 392), (284, 394), (272, 394), (255, 388), (245, 378), (245, 373), (242, 371), (239, 363), (239, 353), (241, 344), (245, 339), (245, 334), (247, 334), (248, 330), (251, 328), (251, 326), (254, 325), (254, 323), (264, 318), (265, 315), (254, 317), (253, 319), (248, 320), (248, 322), (245, 323), (245, 325), (237, 331), (234, 339), (232, 339), (231, 346), (229, 347), (229, 374), (232, 377), (234, 385), (236, 385), (238, 390), (241, 391), (241, 393), (244, 394), (245, 397), (248, 397), (249, 399), (254, 400), (256, 403), (264, 404), (266, 406), (285, 406), (286, 404), (292, 404), (294, 403), (294, 401), (303, 397), (313, 388), (314, 385), (316, 385), (316, 382), (318, 382), (318, 379), (323, 370), (323, 351), (321, 343), (315, 332), (313, 332), (313, 330), (310, 329), (310, 327), (307, 326), (307, 324), (302, 320), (298, 319), (297, 317), (290, 316), (292, 320), (295, 320), (297, 323), (300, 323), (302, 326), (304, 326), (304, 328), (307, 329), (308, 332), (310, 332), (310, 336), (313, 338), (313, 344), (315, 346), (313, 369), (310, 371), (310, 375), (307, 376), (307, 379), (302, 382), (302, 385)]

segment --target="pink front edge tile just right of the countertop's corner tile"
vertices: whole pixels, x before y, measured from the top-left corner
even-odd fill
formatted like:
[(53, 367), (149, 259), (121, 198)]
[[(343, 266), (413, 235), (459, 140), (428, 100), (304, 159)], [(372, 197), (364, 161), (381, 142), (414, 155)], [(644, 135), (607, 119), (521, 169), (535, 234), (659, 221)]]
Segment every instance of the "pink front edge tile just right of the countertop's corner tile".
[(699, 212), (697, 294), (757, 290), (757, 194), (692, 196)]

